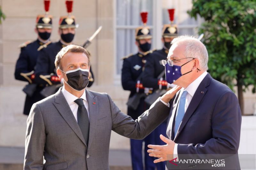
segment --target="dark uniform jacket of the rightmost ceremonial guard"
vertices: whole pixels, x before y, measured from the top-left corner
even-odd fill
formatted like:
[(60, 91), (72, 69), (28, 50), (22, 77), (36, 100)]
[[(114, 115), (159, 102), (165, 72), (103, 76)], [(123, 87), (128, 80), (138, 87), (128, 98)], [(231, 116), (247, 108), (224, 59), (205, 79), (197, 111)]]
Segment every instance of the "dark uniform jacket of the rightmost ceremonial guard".
[[(157, 77), (164, 70), (162, 60), (167, 59), (168, 52), (168, 50), (163, 48), (148, 54), (147, 63), (145, 64), (145, 70), (142, 76), (142, 84), (144, 87), (159, 89), (159, 79), (157, 79)], [(165, 80), (165, 75), (163, 76), (163, 80)], [(166, 88), (166, 86), (162, 88)]]

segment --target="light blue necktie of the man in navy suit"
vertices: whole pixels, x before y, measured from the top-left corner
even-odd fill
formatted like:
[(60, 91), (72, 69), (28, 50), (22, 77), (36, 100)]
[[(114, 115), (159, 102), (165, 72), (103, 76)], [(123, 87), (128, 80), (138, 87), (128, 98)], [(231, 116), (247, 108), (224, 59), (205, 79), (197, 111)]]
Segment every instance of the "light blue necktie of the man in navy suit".
[(186, 90), (184, 90), (180, 96), (180, 103), (179, 103), (179, 107), (178, 107), (177, 115), (176, 115), (176, 119), (175, 119), (174, 137), (176, 136), (177, 131), (180, 126), (180, 122), (182, 121), (183, 116), (185, 115), (185, 103), (186, 103), (186, 95), (187, 94), (188, 94), (188, 92)]

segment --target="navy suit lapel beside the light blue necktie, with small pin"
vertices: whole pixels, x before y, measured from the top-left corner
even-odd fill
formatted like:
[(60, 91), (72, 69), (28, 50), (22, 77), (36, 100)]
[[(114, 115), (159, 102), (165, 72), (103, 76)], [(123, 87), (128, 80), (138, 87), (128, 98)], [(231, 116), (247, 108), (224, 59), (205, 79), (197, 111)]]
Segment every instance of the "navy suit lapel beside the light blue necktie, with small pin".
[(185, 115), (180, 123), (180, 127), (177, 131), (177, 134), (174, 138), (174, 142), (177, 139), (177, 137), (180, 135), (181, 130), (184, 128), (184, 126), (186, 125), (186, 123), (188, 122), (189, 118), (191, 115), (193, 115), (193, 113), (195, 112), (197, 106), (199, 105), (199, 103), (201, 102), (201, 100), (203, 99), (205, 93), (207, 92), (207, 86), (210, 84), (210, 81), (212, 80), (212, 77), (210, 76), (210, 74), (208, 73), (205, 78), (203, 79), (203, 81), (200, 83), (200, 85), (198, 86), (198, 88), (196, 89), (196, 92), (193, 96), (193, 98), (191, 99), (191, 102), (188, 105), (188, 109), (185, 112)]

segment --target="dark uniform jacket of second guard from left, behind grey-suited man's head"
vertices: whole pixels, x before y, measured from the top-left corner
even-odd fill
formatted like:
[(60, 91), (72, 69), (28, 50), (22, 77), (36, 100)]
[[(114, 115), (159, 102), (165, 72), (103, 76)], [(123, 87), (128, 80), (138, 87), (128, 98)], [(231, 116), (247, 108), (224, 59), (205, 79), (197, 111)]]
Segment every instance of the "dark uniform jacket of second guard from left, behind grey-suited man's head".
[[(40, 50), (37, 63), (36, 63), (36, 78), (35, 81), (40, 84), (59, 84), (60, 79), (57, 77), (56, 68), (55, 68), (55, 58), (61, 48), (65, 47), (60, 41), (49, 44), (46, 48)], [(92, 68), (91, 72), (91, 81), (89, 81), (88, 87), (93, 83), (93, 74)], [(53, 78), (52, 78), (53, 77)]]

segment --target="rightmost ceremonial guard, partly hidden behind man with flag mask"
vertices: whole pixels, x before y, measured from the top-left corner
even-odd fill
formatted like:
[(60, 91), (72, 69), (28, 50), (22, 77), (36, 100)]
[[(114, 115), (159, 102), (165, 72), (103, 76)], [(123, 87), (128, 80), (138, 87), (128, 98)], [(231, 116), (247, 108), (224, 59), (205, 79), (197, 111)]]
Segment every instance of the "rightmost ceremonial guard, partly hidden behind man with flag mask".
[[(162, 31), (162, 42), (163, 48), (154, 51), (152, 54), (148, 55), (147, 63), (145, 65), (145, 70), (142, 75), (142, 84), (144, 87), (154, 88), (154, 92), (148, 95), (146, 101), (150, 105), (159, 96), (165, 93), (166, 89), (172, 87), (165, 81), (165, 70), (162, 65), (162, 60), (167, 59), (169, 49), (171, 47), (171, 41), (173, 38), (178, 36), (177, 25), (173, 24), (174, 20), (174, 9), (169, 9), (169, 17), (171, 24), (165, 24)], [(163, 92), (161, 92), (163, 91)], [(154, 133), (155, 144), (164, 145), (165, 143), (160, 139), (160, 135), (166, 134), (166, 121), (159, 125), (152, 133)], [(159, 162), (156, 164), (158, 170), (165, 169), (165, 162)]]

